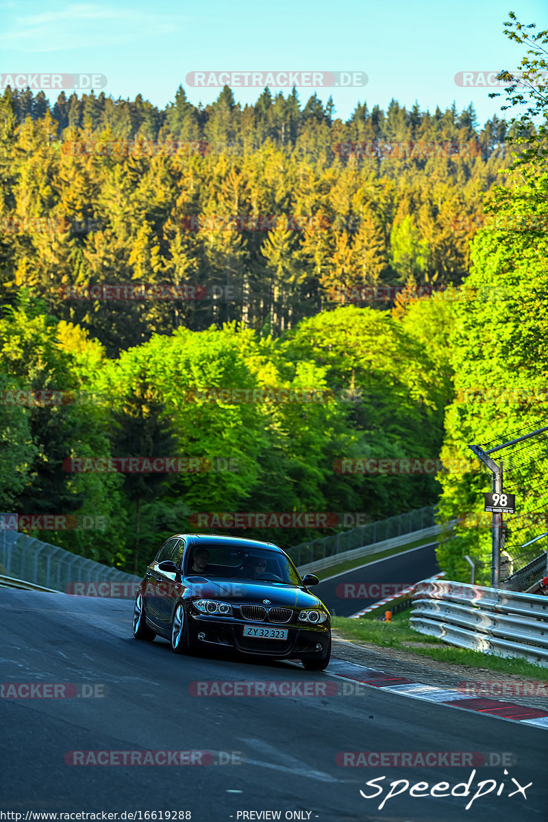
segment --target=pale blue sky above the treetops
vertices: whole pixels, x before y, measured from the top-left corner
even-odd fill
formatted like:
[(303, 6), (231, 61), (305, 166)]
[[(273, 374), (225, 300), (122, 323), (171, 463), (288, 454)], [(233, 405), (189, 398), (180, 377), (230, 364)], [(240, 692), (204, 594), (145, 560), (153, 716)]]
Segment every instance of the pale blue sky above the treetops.
[[(509, 9), (548, 28), (546, 0), (0, 0), (0, 73), (100, 73), (106, 94), (140, 93), (163, 107), (180, 83), (194, 104), (219, 95), (190, 88), (189, 72), (366, 72), (365, 87), (297, 91), (303, 104), (314, 92), (324, 102), (332, 94), (343, 119), (358, 99), (386, 108), (394, 97), (431, 110), (472, 102), (483, 123), (501, 116), (504, 96), (490, 99), (496, 89), (463, 88), (454, 76), (518, 67), (524, 50), (503, 34)], [(251, 103), (260, 88), (234, 93)]]

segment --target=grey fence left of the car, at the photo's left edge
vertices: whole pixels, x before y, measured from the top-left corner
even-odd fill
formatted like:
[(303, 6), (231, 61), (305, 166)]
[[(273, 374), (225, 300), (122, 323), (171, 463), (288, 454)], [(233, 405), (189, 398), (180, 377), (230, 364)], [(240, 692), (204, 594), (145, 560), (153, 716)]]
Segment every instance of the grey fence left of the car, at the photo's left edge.
[(140, 577), (85, 559), (25, 533), (0, 530), (0, 575), (55, 591), (75, 582), (135, 582)]

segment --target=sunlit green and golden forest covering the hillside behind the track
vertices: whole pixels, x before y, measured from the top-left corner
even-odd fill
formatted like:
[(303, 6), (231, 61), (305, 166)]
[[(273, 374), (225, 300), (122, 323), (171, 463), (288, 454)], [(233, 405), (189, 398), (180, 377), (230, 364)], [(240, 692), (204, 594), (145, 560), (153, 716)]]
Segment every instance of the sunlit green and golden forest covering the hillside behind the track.
[[(546, 380), (536, 89), (534, 116), (483, 124), (394, 99), (343, 122), (294, 89), (196, 107), (180, 85), (163, 110), (4, 90), (0, 509), (87, 518), (29, 533), (127, 570), (200, 512), (340, 515), (226, 532), (288, 547), (343, 512), (472, 510), (472, 471), (339, 467), (469, 459), (486, 427), (546, 415), (462, 401)], [(199, 467), (97, 469), (128, 457)], [(442, 547), (450, 578), (482, 539)]]

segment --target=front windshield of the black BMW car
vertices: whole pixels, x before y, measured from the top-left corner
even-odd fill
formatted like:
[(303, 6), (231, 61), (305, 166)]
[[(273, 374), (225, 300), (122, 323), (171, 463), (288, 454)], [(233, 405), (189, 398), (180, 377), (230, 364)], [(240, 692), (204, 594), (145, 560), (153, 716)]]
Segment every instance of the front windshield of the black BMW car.
[(208, 544), (193, 546), (187, 557), (187, 575), (208, 579), (256, 580), (301, 585), (297, 571), (278, 551)]

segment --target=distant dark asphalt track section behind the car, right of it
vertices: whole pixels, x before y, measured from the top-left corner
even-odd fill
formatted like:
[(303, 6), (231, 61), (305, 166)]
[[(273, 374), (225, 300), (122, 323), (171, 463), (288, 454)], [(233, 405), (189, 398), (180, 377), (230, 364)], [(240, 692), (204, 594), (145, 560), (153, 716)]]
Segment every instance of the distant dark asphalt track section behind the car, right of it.
[[(435, 558), (436, 545), (437, 543), (432, 543), (401, 554), (387, 556), (384, 560), (375, 560), (362, 568), (349, 570), (343, 575), (320, 582), (313, 591), (331, 613), (335, 612), (338, 617), (350, 617), (379, 599), (396, 593), (402, 587), (437, 574), (440, 567)], [(356, 587), (348, 589), (346, 587), (348, 584), (354, 584)], [(359, 586), (363, 584), (369, 588), (360, 590)], [(383, 586), (384, 590), (389, 593), (383, 593)], [(391, 589), (394, 586), (398, 588), (393, 591)], [(361, 595), (356, 598), (350, 595), (351, 593), (375, 593), (376, 589), (379, 589), (378, 596), (364, 598)]]

